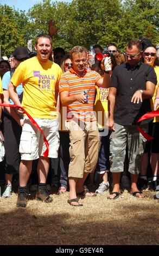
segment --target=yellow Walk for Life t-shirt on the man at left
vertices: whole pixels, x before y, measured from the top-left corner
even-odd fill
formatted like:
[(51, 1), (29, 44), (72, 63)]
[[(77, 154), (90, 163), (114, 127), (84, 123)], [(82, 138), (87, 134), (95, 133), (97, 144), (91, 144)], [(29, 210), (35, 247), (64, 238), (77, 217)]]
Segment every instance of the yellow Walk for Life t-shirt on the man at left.
[(56, 119), (55, 90), (59, 90), (62, 70), (48, 60), (40, 63), (37, 57), (22, 62), (14, 72), (11, 82), (23, 84), (22, 106), (33, 118)]

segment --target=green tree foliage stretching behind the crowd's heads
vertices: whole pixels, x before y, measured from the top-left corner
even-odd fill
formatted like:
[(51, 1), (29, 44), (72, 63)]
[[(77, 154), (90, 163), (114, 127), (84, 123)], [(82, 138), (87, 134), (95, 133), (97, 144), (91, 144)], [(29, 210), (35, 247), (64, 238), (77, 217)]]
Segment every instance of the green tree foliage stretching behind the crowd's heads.
[(114, 42), (124, 51), (128, 40), (141, 35), (157, 44), (158, 5), (156, 0), (43, 0), (27, 14), (0, 5), (2, 52), (11, 53), (14, 47), (35, 40), (38, 34), (48, 33), (50, 19), (60, 28), (53, 38), (54, 47), (66, 50), (75, 45), (89, 48), (95, 43), (106, 47)]

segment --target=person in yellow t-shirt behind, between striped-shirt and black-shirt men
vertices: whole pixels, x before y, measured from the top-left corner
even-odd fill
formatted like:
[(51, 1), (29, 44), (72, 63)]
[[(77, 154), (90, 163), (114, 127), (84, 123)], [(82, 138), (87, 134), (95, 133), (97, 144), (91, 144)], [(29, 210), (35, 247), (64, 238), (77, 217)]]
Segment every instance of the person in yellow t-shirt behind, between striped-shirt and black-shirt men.
[[(116, 59), (111, 54), (111, 70), (107, 71), (110, 76), (112, 74), (113, 69), (115, 68)], [(100, 63), (100, 69), (101, 68)], [(97, 72), (100, 72), (97, 70)], [(94, 67), (92, 66), (92, 70)], [(100, 73), (99, 73), (100, 74)], [(104, 74), (104, 72), (103, 72)], [(108, 173), (110, 170), (110, 163), (109, 163), (109, 151), (110, 151), (110, 133), (108, 129), (108, 102), (107, 96), (109, 94), (109, 88), (101, 88), (96, 86), (96, 100), (94, 103), (94, 111), (97, 113), (97, 122), (98, 122), (98, 129), (100, 134), (100, 151), (98, 156), (98, 162), (96, 166), (96, 173), (98, 174), (98, 188), (96, 189), (96, 193), (102, 194), (109, 190), (109, 177)], [(102, 115), (100, 115), (102, 113)]]

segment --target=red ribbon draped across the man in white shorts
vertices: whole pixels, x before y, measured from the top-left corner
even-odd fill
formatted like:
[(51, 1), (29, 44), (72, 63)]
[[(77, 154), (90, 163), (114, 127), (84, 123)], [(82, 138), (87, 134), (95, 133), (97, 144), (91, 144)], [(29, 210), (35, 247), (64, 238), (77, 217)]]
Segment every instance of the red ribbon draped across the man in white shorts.
[(48, 157), (49, 154), (49, 143), (46, 139), (46, 137), (44, 136), (43, 131), (41, 130), (40, 126), (36, 123), (36, 121), (31, 117), (31, 115), (29, 115), (29, 113), (21, 106), (18, 105), (11, 105), (11, 104), (4, 104), (4, 103), (0, 103), (0, 106), (4, 106), (4, 107), (14, 107), (14, 108), (21, 108), (27, 115), (27, 117), (31, 120), (31, 123), (34, 124), (37, 129), (39, 129), (39, 131), (42, 133), (43, 135), (43, 141), (46, 144), (46, 151), (44, 151), (43, 156), (44, 157)]

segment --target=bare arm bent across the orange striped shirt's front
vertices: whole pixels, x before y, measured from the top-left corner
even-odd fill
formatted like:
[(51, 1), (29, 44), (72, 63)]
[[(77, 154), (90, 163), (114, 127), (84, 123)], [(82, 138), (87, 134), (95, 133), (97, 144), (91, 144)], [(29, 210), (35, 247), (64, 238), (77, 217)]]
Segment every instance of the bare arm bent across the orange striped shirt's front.
[(69, 92), (67, 90), (60, 93), (60, 99), (62, 106), (68, 106), (72, 104), (74, 101), (79, 101), (81, 103), (86, 102), (86, 97), (84, 93), (79, 93), (77, 95), (69, 96)]

